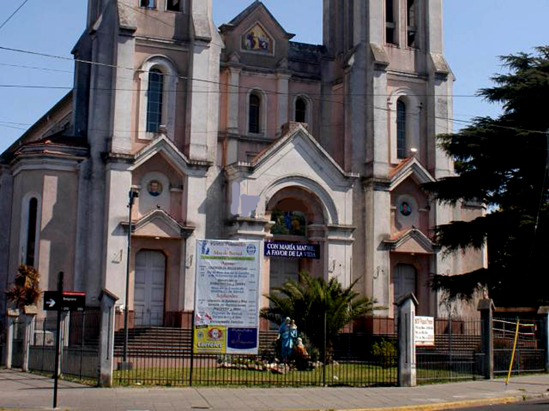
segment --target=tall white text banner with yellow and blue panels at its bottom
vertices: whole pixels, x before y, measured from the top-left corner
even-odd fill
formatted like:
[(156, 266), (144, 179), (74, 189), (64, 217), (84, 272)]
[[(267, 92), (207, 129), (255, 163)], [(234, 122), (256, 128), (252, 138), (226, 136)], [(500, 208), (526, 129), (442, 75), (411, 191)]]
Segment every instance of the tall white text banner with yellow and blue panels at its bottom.
[(194, 352), (257, 354), (259, 241), (197, 240)]

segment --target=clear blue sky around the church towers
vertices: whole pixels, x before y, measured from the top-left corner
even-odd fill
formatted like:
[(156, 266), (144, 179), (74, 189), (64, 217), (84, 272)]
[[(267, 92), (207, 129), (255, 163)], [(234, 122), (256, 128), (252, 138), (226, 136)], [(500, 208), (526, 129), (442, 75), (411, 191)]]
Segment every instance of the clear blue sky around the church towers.
[[(22, 2), (4, 0), (0, 24)], [(230, 21), (251, 2), (213, 0), (215, 23)], [(322, 42), (321, 0), (264, 0), (264, 3), (288, 32), (296, 34), (294, 40)], [(71, 58), (71, 49), (84, 30), (86, 4), (85, 0), (55, 0), (47, 5), (29, 0), (0, 30), (0, 46)], [(502, 71), (498, 55), (532, 51), (537, 45), (549, 44), (548, 16), (548, 0), (444, 1), (445, 56), (457, 79), (455, 119), (498, 114), (497, 106), (467, 96), (474, 95), (478, 88), (490, 86), (489, 77)], [(70, 61), (0, 50), (0, 85), (71, 86), (72, 70)], [(0, 87), (0, 152), (66, 92)]]

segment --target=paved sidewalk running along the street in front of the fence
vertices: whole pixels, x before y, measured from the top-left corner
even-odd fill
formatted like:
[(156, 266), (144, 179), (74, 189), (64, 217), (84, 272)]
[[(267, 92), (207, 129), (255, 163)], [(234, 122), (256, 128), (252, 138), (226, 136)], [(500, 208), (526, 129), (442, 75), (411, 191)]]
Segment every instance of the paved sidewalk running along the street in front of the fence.
[[(0, 370), (0, 409), (51, 408), (53, 380)], [(414, 388), (90, 388), (60, 381), (62, 410), (441, 410), (549, 395), (549, 374)]]

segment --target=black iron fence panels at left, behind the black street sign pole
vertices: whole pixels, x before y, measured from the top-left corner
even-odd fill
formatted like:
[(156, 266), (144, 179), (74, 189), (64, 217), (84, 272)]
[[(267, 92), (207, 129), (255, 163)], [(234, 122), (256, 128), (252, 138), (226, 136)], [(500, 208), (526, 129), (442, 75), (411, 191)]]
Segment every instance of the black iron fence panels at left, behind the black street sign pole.
[[(60, 329), (62, 375), (96, 381), (99, 373), (100, 313), (97, 310), (72, 312)], [(30, 342), (29, 370), (54, 373), (56, 321), (40, 319), (34, 323)]]

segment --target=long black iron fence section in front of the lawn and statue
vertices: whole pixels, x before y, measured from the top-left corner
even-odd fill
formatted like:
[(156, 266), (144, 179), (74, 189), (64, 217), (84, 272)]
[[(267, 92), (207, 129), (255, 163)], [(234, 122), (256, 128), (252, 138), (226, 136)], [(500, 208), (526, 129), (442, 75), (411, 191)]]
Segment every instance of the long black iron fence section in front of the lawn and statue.
[[(143, 316), (140, 316), (143, 321)], [(156, 324), (157, 321), (154, 321)], [(115, 385), (161, 386), (393, 386), (397, 384), (396, 334), (340, 333), (329, 346), (307, 345), (307, 356), (283, 362), (276, 331), (259, 333), (257, 355), (194, 354), (191, 329), (145, 326), (128, 332), (128, 362), (123, 361), (124, 330), (115, 333)], [(120, 367), (122, 368), (122, 367)]]

